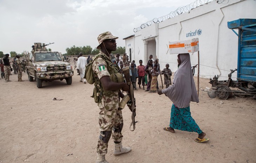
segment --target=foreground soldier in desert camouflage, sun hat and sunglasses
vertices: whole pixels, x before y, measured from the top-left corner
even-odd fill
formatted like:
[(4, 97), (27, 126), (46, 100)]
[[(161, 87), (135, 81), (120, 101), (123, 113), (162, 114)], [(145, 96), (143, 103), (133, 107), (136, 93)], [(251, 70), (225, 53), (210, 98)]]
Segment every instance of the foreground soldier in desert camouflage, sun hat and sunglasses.
[[(105, 160), (105, 155), (108, 150), (108, 141), (112, 135), (115, 143), (114, 156), (118, 156), (123, 153), (128, 153), (131, 151), (129, 147), (122, 147), (122, 127), (123, 127), (123, 117), (122, 110), (119, 110), (120, 97), (123, 98), (124, 95), (120, 91), (127, 91), (129, 86), (123, 82), (122, 75), (118, 72), (118, 66), (113, 67), (113, 62), (110, 59), (110, 53), (116, 50), (116, 42), (114, 37), (110, 32), (102, 33), (98, 36), (99, 46), (97, 49), (101, 49), (98, 55), (95, 56), (96, 59), (93, 61), (92, 69), (97, 77), (98, 85), (103, 88), (102, 94), (99, 96), (101, 100), (97, 103), (99, 112), (99, 125), (100, 125), (100, 136), (97, 141), (97, 159), (96, 163), (107, 163)], [(115, 75), (121, 75), (122, 79), (118, 81), (113, 81), (110, 79), (111, 74), (113, 74), (114, 68), (117, 73)], [(98, 92), (97, 92), (98, 93)]]

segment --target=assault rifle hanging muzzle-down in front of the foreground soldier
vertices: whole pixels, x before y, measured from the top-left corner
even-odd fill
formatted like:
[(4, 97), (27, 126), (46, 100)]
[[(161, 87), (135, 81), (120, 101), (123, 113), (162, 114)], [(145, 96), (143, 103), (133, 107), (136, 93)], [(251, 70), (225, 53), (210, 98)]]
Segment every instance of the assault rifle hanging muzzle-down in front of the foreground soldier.
[[(135, 129), (135, 123), (138, 121), (135, 121), (136, 116), (136, 102), (133, 94), (133, 84), (130, 81), (130, 69), (129, 66), (123, 67), (122, 72), (124, 74), (124, 77), (126, 79), (126, 83), (130, 87), (130, 89), (127, 91), (127, 95), (123, 97), (123, 99), (120, 102), (119, 108), (123, 109), (124, 106), (127, 104), (128, 108), (132, 112), (132, 122), (130, 124), (130, 131), (134, 131)], [(131, 126), (133, 126), (133, 130), (131, 130)]]

